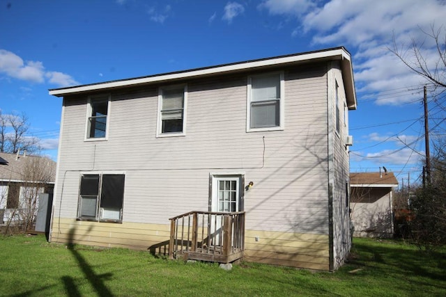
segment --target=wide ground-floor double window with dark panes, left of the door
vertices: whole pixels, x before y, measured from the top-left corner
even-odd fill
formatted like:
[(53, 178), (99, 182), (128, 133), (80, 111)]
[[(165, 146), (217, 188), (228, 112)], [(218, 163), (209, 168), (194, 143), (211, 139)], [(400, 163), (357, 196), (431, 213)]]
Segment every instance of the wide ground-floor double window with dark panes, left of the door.
[(125, 175), (86, 174), (79, 186), (79, 219), (121, 222)]

